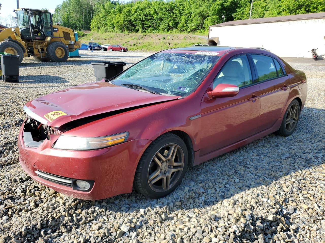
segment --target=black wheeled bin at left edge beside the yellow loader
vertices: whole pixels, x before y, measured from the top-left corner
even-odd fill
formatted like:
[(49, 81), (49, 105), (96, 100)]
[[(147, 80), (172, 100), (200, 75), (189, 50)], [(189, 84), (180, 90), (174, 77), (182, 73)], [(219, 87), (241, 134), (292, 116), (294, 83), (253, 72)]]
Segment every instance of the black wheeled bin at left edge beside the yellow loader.
[(1, 54), (1, 71), (4, 82), (18, 82), (19, 56)]

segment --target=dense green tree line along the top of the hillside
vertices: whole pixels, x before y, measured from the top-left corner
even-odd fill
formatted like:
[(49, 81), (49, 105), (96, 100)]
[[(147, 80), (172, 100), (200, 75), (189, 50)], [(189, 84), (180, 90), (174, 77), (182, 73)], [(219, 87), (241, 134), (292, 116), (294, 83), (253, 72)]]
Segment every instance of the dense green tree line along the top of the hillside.
[[(65, 0), (55, 21), (76, 30), (197, 32), (225, 21), (248, 19), (251, 0)], [(325, 11), (324, 0), (253, 0), (252, 18)]]

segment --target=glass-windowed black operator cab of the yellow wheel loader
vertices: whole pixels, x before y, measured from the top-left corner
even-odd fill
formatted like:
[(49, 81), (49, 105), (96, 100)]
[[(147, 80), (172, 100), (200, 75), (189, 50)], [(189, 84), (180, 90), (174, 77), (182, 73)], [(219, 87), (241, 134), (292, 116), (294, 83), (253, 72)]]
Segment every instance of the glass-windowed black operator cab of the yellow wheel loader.
[(44, 41), (53, 36), (52, 15), (38, 9), (21, 8), (15, 10), (20, 37), (29, 41)]

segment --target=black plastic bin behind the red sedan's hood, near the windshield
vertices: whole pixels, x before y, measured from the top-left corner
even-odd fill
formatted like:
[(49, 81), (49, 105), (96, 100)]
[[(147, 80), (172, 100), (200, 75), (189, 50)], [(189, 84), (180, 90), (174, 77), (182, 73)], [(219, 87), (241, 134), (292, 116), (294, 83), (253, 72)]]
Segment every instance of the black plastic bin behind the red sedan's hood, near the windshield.
[(125, 62), (98, 62), (91, 63), (94, 68), (96, 80), (110, 79), (123, 71)]

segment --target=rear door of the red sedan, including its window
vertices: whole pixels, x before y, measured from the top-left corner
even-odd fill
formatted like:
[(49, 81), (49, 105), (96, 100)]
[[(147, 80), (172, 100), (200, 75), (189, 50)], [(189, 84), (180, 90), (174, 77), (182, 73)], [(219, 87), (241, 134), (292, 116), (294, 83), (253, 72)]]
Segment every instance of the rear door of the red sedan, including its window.
[(290, 93), (290, 78), (277, 59), (251, 54), (260, 86), (261, 112), (257, 132), (268, 129), (279, 119)]

